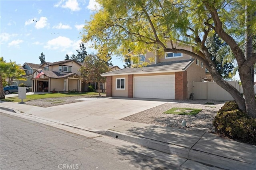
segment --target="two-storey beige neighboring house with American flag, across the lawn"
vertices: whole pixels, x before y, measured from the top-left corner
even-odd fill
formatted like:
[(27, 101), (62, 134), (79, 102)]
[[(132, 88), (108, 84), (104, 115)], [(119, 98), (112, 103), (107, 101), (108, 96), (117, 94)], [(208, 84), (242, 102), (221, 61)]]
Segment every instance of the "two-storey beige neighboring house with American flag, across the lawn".
[[(33, 92), (69, 92), (82, 91), (82, 80), (78, 70), (81, 63), (75, 60), (64, 60), (54, 63), (44, 62), (40, 66), (40, 70), (33, 73)], [(44, 74), (37, 78), (40, 71)]]

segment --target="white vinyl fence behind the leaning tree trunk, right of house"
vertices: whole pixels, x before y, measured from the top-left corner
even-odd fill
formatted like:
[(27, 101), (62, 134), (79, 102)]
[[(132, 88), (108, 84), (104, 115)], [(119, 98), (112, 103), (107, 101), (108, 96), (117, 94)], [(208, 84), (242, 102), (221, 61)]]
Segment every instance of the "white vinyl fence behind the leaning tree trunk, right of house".
[[(229, 81), (228, 83), (241, 92), (238, 81)], [(216, 84), (216, 82), (194, 82), (194, 99), (234, 100), (234, 98), (232, 98), (226, 90)]]

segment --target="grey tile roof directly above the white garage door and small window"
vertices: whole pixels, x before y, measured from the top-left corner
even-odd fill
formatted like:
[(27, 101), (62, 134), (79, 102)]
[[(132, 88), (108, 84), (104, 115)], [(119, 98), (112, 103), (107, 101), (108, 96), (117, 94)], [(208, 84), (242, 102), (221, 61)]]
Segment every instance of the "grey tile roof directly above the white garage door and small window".
[(119, 70), (113, 70), (101, 74), (102, 76), (113, 76), (113, 75), (128, 75), (128, 74), (147, 74), (147, 73), (158, 73), (158, 72), (176, 72), (184, 71), (194, 59), (180, 60), (180, 61), (169, 61), (157, 64), (151, 64), (145, 67), (127, 67)]

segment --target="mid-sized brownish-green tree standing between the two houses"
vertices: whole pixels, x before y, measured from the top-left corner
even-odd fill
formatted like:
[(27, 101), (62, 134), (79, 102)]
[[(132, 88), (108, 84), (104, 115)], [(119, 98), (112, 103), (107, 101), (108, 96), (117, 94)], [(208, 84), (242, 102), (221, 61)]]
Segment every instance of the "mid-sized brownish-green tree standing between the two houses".
[(98, 92), (100, 95), (100, 83), (106, 82), (106, 77), (100, 74), (110, 71), (106, 61), (100, 59), (98, 55), (89, 54), (84, 59), (84, 65), (80, 68), (81, 78), (86, 82), (96, 82), (98, 84)]

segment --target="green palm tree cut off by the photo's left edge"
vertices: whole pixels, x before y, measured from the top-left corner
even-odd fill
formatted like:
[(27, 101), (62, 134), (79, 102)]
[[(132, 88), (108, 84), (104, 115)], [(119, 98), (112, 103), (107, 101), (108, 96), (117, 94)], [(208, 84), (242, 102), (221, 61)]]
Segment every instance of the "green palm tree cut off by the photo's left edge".
[(0, 57), (0, 99), (5, 98), (3, 82), (8, 77), (8, 71), (11, 68), (10, 63), (6, 63), (3, 57)]

